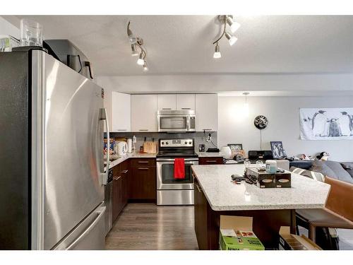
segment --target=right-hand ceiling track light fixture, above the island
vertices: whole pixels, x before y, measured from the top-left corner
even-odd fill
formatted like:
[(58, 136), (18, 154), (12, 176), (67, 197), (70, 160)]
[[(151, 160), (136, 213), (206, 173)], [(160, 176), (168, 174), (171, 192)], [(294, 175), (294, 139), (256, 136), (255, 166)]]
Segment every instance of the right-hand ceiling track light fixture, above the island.
[[(222, 15), (218, 16), (218, 20), (220, 20), (220, 23), (223, 25), (223, 31), (220, 37), (213, 42), (213, 45), (215, 46), (215, 53), (213, 54), (213, 58), (218, 59), (221, 57), (220, 54), (220, 46), (218, 45), (218, 42), (222, 39), (223, 36), (225, 36), (229, 42), (229, 45), (232, 46), (234, 45), (235, 42), (237, 42), (237, 37), (232, 35), (232, 33), (235, 33), (238, 28), (240, 27), (240, 24), (237, 23), (236, 21), (233, 20), (233, 16), (230, 15)], [(227, 25), (229, 25), (229, 29), (232, 33), (227, 32)]]

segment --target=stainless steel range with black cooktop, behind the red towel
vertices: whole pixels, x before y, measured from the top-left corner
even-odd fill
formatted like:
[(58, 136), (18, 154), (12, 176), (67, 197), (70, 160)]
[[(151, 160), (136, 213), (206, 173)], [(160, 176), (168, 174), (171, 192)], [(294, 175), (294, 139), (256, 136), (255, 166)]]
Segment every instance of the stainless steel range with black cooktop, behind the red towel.
[[(198, 165), (193, 139), (160, 139), (157, 154), (157, 205), (192, 205), (191, 165)], [(174, 178), (175, 158), (184, 158), (185, 176)]]

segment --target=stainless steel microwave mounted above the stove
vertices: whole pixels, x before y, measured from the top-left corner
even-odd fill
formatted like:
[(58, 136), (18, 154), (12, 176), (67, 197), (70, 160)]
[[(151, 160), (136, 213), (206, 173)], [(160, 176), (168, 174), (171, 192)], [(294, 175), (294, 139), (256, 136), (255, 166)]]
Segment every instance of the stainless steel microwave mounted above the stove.
[(158, 131), (196, 131), (195, 110), (158, 110)]

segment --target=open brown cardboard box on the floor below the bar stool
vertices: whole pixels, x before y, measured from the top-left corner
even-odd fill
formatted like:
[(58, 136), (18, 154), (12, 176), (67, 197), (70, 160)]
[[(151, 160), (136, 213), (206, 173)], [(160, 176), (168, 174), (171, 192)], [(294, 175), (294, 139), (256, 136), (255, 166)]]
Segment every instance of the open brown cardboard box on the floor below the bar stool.
[(290, 233), (289, 226), (280, 228), (280, 250), (322, 250), (313, 241), (304, 235), (293, 235)]

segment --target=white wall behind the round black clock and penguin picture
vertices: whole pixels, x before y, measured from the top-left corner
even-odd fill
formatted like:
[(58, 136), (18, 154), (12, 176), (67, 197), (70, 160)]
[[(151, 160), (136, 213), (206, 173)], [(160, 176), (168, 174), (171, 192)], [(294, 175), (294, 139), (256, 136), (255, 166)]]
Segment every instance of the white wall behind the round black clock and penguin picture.
[(248, 97), (249, 117), (241, 114), (244, 97), (219, 97), (218, 144), (242, 143), (243, 148), (260, 150), (260, 131), (253, 119), (263, 114), (269, 124), (262, 131), (263, 150), (270, 141), (282, 141), (287, 155), (316, 155), (327, 151), (330, 160), (353, 161), (353, 141), (303, 141), (299, 139), (299, 107), (353, 107), (353, 96), (346, 97)]

